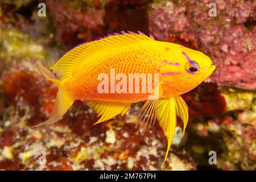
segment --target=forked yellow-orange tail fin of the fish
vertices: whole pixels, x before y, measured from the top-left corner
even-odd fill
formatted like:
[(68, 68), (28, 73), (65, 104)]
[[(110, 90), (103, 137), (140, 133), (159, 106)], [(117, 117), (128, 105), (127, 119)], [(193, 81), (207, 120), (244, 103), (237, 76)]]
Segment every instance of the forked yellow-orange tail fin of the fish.
[[(72, 106), (74, 100), (68, 95), (67, 91), (63, 87), (63, 84), (60, 80), (57, 80), (55, 75), (52, 74), (46, 67), (42, 65), (42, 63), (38, 63), (38, 69), (39, 71), (46, 77), (48, 80), (52, 81), (57, 85), (59, 88), (59, 91), (57, 93), (57, 98), (55, 105), (53, 107), (52, 113), (50, 114), (50, 117), (47, 121), (40, 123), (36, 126), (41, 125), (50, 125), (52, 123), (55, 123), (63, 117), (63, 115), (67, 112), (70, 106)], [(36, 127), (33, 126), (33, 127)]]

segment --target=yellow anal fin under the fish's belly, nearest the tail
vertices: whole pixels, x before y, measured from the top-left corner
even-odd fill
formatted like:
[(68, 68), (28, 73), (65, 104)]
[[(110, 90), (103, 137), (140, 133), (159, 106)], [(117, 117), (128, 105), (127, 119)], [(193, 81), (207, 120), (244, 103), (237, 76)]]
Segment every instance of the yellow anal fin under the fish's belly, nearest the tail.
[(101, 118), (96, 123), (94, 123), (94, 125), (112, 119), (118, 114), (125, 114), (127, 110), (130, 109), (131, 105), (130, 103), (123, 104), (119, 102), (105, 101), (87, 101), (87, 104), (90, 107), (93, 107), (93, 109), (98, 114), (98, 117), (101, 116)]

